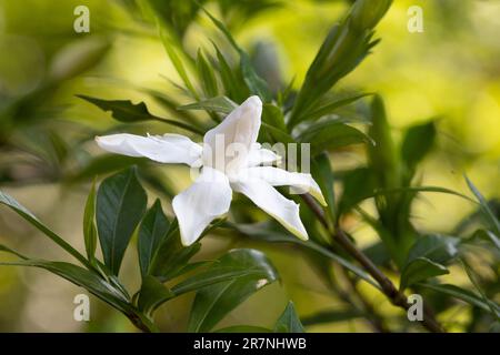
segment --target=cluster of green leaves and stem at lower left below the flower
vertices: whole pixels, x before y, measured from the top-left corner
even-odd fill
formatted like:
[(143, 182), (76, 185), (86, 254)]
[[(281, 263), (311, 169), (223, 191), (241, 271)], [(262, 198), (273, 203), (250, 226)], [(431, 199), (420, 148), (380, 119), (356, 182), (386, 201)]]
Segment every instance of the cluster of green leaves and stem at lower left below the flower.
[[(209, 331), (251, 294), (278, 280), (274, 266), (263, 253), (256, 250), (233, 250), (214, 262), (190, 262), (200, 250), (200, 244), (189, 247), (180, 245), (177, 222), (169, 222), (159, 200), (144, 214), (147, 197), (134, 169), (104, 179), (97, 194), (92, 185), (83, 219), (88, 258), (41, 224), (12, 197), (4, 193), (0, 196), (2, 204), (13, 209), (77, 256), (87, 268), (66, 262), (30, 258), (4, 245), (0, 245), (0, 252), (18, 256), (19, 261), (2, 262), (0, 265), (44, 268), (88, 290), (122, 312), (142, 331), (158, 331), (153, 324), (153, 314), (158, 307), (188, 292), (197, 292), (190, 327)], [(94, 219), (104, 264), (94, 256), (91, 244)], [(141, 268), (142, 283), (136, 295), (130, 297), (117, 275), (124, 250), (139, 222), (138, 267)], [(167, 281), (184, 275), (189, 277), (171, 287), (164, 285)], [(223, 294), (219, 292), (221, 290)], [(213, 303), (207, 303), (210, 297)]]

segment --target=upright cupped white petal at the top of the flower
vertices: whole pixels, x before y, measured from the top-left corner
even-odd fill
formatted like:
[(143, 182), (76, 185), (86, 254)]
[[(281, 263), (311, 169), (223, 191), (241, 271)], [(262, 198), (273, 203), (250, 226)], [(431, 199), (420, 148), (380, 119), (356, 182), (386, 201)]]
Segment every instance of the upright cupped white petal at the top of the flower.
[[(219, 125), (204, 134), (203, 165), (226, 170), (243, 165), (259, 135), (262, 101), (259, 97), (248, 98), (236, 108)], [(231, 148), (232, 152), (228, 151)], [(208, 146), (208, 148), (207, 148)], [(237, 150), (234, 153), (233, 151)]]

